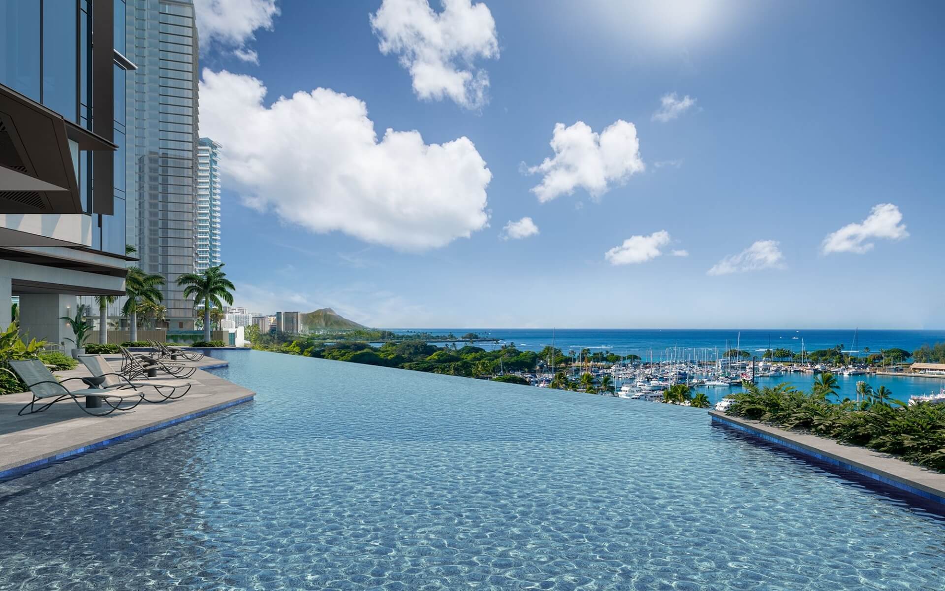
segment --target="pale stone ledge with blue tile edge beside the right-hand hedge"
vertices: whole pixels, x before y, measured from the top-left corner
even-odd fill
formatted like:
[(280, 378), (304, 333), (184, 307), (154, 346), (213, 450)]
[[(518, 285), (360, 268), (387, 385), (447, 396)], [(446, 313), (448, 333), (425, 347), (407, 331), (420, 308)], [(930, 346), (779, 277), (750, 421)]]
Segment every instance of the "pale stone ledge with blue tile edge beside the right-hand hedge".
[(729, 416), (718, 410), (711, 410), (709, 414), (716, 425), (726, 426), (799, 454), (826, 461), (912, 495), (941, 503), (945, 507), (945, 474), (940, 472), (866, 447), (845, 445), (816, 435), (787, 431), (758, 421)]

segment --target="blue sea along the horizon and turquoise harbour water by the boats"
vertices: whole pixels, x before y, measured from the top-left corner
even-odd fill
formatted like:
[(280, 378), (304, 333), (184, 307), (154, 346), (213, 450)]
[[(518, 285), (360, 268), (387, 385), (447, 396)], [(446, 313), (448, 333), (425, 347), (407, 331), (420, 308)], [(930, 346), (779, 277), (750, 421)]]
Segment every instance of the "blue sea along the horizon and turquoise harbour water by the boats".
[[(483, 338), (499, 339), (496, 343), (479, 343), (486, 349), (514, 344), (522, 351), (540, 351), (552, 344), (563, 351), (579, 352), (590, 349), (592, 352), (604, 351), (617, 355), (638, 355), (644, 360), (714, 358), (716, 349), (719, 354), (736, 345), (757, 355), (759, 359), (767, 349), (787, 349), (799, 352), (801, 347), (807, 351), (829, 349), (842, 345), (845, 351), (857, 352), (867, 356), (881, 349), (899, 348), (915, 351), (922, 344), (945, 341), (943, 330), (786, 330), (777, 329), (601, 329), (569, 328), (552, 330), (550, 328), (416, 328), (393, 329), (396, 332), (429, 332), (446, 335), (453, 333), (462, 336), (473, 332)], [(855, 342), (854, 342), (855, 341)], [(811, 387), (813, 376), (810, 374), (786, 374), (779, 378), (759, 378), (759, 385), (771, 385), (786, 382), (801, 390)], [(866, 381), (873, 389), (885, 386), (893, 391), (900, 400), (919, 394), (938, 391), (945, 386), (945, 379), (901, 376), (863, 376), (845, 377), (838, 375), (842, 395), (856, 397), (856, 382)], [(705, 389), (710, 399), (717, 400), (734, 389)]]

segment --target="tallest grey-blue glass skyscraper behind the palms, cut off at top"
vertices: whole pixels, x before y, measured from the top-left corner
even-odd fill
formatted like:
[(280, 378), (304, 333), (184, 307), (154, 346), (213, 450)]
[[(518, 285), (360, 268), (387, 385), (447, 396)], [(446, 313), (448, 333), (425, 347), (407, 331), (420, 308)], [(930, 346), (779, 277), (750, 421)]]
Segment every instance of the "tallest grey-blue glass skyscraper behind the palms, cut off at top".
[(135, 62), (129, 211), (142, 269), (164, 276), (171, 330), (193, 327), (177, 280), (194, 270), (198, 144), (198, 38), (190, 0), (128, 0), (126, 39)]

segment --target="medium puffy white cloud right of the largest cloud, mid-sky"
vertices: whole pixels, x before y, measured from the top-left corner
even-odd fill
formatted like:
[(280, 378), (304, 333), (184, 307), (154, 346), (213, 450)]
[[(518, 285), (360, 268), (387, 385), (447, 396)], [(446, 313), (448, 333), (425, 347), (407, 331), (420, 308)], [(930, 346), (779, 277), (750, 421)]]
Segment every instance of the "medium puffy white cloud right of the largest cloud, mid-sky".
[(600, 134), (583, 121), (570, 127), (555, 125), (551, 137), (554, 158), (526, 168), (529, 174), (541, 172), (541, 184), (531, 191), (542, 202), (559, 195), (574, 193), (583, 187), (592, 197), (610, 190), (611, 183), (626, 183), (635, 173), (643, 172), (640, 140), (632, 123), (618, 119)]

